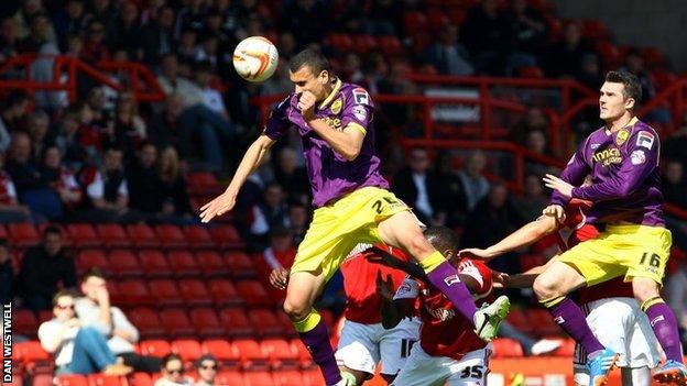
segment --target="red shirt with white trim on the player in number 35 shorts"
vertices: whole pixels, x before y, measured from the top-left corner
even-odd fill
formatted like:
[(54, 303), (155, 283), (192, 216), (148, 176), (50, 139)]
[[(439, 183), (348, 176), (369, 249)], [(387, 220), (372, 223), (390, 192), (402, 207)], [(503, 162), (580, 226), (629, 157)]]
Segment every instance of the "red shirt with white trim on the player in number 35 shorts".
[[(491, 269), (482, 262), (462, 258), (458, 273), (473, 277), (479, 288), (473, 293), (476, 305), (493, 300)], [(473, 331), (472, 321), (458, 313), (439, 290), (406, 277), (394, 299), (419, 299), (422, 328), (419, 345), (432, 356), (460, 360), (465, 354), (483, 349), (487, 343)]]

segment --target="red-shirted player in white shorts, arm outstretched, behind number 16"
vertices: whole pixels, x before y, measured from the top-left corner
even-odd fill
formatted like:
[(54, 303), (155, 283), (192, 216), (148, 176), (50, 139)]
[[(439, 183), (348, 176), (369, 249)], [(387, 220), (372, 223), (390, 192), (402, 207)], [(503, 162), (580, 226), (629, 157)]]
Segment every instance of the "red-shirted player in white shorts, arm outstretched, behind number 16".
[[(557, 222), (554, 217), (542, 216), (488, 249), (468, 249), (460, 251), (460, 255), (489, 261), (554, 233), (560, 250), (566, 251), (599, 235), (597, 228), (585, 221), (584, 211), (589, 207), (588, 201), (572, 199), (566, 206), (564, 223)], [(559, 232), (564, 228), (572, 231), (567, 243)], [(534, 267), (524, 274), (506, 277), (504, 284), (511, 288), (532, 287), (537, 274), (543, 271), (544, 266)], [(593, 287), (580, 288), (579, 302), (595, 335), (604, 346), (620, 355), (618, 366), (621, 367), (623, 386), (651, 386), (651, 368), (658, 364), (661, 355), (656, 351), (657, 342), (648, 319), (640, 311), (632, 295), (632, 285), (617, 277)], [(575, 346), (572, 373), (576, 385), (589, 385), (587, 353), (579, 344)]]

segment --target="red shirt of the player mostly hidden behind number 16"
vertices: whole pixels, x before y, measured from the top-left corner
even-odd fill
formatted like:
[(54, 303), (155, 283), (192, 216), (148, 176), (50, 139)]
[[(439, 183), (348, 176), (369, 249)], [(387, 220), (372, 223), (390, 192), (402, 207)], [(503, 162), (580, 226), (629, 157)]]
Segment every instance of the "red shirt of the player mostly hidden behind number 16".
[[(568, 236), (568, 242), (559, 243), (563, 251), (571, 249), (572, 246), (592, 240), (599, 236), (599, 230), (592, 224), (586, 222), (585, 211), (591, 208), (591, 202), (579, 199), (571, 199), (570, 203), (566, 207), (566, 221), (564, 227), (570, 228), (572, 233)], [(579, 302), (580, 305), (606, 298), (633, 298), (632, 285), (625, 283), (622, 276), (615, 277), (608, 282), (597, 284), (592, 287), (584, 287), (579, 289)]]

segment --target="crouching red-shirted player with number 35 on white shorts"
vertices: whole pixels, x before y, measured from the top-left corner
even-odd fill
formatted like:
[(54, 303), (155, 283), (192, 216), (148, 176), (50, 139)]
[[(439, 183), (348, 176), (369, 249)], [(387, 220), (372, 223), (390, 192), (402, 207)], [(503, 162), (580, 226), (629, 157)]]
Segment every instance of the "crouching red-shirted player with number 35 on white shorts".
[[(480, 261), (458, 261), (458, 236), (454, 231), (446, 227), (429, 228), (425, 235), (451, 262), (456, 273), (454, 280), (465, 283), (478, 304), (492, 297), (491, 269)], [(491, 344), (479, 339), (470, 321), (456, 313), (451, 301), (444, 294), (429, 286), (425, 279), (411, 276), (395, 295), (391, 279), (380, 277), (378, 291), (384, 299), (382, 323), (386, 328), (394, 327), (411, 315), (416, 301), (419, 302), (419, 343), (411, 351), (411, 356), (392, 385), (487, 385)]]

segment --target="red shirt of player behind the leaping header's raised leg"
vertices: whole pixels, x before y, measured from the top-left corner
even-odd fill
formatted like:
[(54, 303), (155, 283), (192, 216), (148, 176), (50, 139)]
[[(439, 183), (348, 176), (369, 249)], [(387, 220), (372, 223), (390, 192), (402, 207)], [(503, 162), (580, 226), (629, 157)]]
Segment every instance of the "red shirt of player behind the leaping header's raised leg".
[[(359, 244), (351, 257), (341, 263), (340, 269), (344, 275), (344, 291), (346, 293), (346, 311), (344, 316), (347, 320), (374, 324), (382, 322), (382, 299), (377, 295), (377, 272), (380, 271), (382, 277), (391, 275), (394, 288), (399, 288), (405, 273), (390, 268), (382, 264), (369, 262), (361, 253), (369, 249), (370, 244)], [(408, 261), (403, 251), (383, 244), (377, 245), (392, 255)]]

